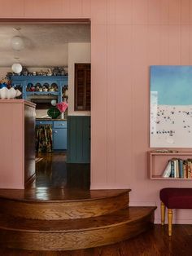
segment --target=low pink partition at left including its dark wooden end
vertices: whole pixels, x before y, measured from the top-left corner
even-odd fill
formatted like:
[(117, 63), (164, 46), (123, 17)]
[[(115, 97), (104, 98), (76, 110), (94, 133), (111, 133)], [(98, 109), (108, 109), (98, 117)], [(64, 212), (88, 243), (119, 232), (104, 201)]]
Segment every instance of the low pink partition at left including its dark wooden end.
[(0, 111), (0, 188), (24, 189), (35, 174), (35, 104), (0, 99)]

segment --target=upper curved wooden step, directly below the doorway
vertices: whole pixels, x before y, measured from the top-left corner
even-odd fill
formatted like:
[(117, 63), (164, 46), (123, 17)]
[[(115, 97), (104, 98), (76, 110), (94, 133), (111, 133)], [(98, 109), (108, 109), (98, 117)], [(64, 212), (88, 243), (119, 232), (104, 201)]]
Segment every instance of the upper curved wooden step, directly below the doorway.
[(129, 206), (127, 190), (0, 190), (0, 212), (20, 218), (59, 220), (110, 214)]

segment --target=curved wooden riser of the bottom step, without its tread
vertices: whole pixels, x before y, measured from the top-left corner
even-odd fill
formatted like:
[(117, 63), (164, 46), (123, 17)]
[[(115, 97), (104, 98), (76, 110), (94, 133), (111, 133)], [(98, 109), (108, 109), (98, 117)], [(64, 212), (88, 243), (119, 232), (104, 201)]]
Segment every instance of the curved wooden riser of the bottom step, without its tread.
[(0, 245), (15, 249), (72, 250), (110, 245), (145, 232), (154, 221), (151, 214), (131, 223), (80, 232), (24, 232), (0, 229)]

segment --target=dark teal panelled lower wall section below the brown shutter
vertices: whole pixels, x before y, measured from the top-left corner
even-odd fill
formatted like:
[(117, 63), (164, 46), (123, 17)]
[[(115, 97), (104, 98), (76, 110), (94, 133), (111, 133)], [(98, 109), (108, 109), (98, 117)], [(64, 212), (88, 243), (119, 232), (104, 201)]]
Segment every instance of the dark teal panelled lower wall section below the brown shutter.
[(90, 162), (90, 117), (68, 116), (68, 163)]

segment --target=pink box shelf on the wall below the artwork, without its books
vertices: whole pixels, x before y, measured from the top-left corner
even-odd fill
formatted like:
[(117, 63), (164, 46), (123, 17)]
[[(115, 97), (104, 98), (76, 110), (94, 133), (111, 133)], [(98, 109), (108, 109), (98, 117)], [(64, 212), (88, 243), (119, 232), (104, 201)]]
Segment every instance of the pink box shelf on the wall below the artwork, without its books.
[[(168, 161), (172, 159), (181, 159), (182, 161), (191, 160), (192, 152), (155, 152), (150, 151), (148, 153), (148, 170), (150, 179), (166, 179), (166, 180), (192, 180), (192, 178), (165, 178), (162, 175), (164, 170), (168, 166)], [(192, 169), (192, 166), (191, 166)], [(191, 170), (192, 171), (192, 170)], [(191, 176), (190, 176), (191, 177)]]

